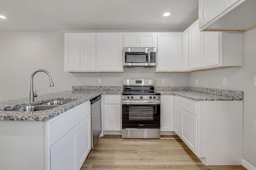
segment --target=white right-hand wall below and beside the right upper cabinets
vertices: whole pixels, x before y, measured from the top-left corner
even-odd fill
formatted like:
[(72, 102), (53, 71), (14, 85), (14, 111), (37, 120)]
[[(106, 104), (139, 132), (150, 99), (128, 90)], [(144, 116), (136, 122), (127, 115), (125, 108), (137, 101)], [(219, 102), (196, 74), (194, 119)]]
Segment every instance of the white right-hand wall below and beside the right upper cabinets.
[[(244, 66), (190, 73), (190, 86), (244, 91), (243, 159), (256, 167), (256, 29), (244, 33)], [(227, 86), (222, 86), (227, 78)], [(198, 79), (198, 85), (195, 80)]]

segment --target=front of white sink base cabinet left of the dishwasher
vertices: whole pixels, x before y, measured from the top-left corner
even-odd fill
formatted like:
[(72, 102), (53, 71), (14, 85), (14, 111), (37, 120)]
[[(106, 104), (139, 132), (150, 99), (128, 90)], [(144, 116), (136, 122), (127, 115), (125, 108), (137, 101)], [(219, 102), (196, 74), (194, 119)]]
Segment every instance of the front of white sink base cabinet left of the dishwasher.
[[(82, 121), (81, 117), (84, 117)], [(62, 133), (62, 129), (66, 127), (68, 130), (64, 132), (64, 136), (50, 145), (51, 170), (80, 170), (88, 156), (91, 150), (90, 101), (74, 107), (59, 118), (50, 120), (50, 134), (53, 136)]]

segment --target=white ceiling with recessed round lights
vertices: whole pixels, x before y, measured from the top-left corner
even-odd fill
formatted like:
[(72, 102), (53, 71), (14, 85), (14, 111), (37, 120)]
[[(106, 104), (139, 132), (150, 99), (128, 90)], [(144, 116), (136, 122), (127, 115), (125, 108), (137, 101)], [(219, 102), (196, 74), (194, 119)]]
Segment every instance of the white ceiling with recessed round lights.
[(0, 31), (183, 31), (198, 0), (0, 0), (0, 15)]

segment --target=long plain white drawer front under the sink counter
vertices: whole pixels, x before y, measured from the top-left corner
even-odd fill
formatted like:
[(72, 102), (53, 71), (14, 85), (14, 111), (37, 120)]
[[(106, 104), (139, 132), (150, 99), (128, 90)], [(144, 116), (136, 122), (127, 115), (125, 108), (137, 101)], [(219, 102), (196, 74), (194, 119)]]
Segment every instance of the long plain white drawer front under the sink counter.
[(91, 112), (90, 101), (50, 120), (50, 145), (53, 145)]

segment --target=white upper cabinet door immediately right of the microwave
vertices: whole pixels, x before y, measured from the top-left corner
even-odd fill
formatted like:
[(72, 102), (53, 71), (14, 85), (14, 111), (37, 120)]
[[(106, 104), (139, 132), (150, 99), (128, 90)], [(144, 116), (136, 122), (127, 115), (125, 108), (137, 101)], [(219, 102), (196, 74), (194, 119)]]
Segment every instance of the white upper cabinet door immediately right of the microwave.
[(169, 33), (157, 34), (157, 70), (169, 71)]

